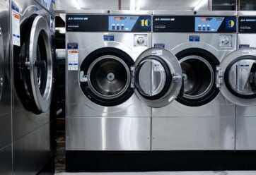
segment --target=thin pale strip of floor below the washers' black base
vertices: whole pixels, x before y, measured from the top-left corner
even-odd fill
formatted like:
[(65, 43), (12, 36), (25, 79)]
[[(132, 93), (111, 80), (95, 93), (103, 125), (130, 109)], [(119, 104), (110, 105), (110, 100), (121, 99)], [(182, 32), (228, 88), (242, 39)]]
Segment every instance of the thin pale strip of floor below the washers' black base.
[(56, 175), (256, 175), (256, 171), (173, 171), (173, 172), (130, 172), (130, 173), (59, 173)]

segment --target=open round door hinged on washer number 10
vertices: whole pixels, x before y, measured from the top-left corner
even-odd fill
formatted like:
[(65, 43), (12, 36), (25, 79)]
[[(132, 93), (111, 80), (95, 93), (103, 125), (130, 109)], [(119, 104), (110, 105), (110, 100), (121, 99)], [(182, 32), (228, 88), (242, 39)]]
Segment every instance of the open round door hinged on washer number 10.
[(166, 49), (151, 48), (135, 61), (132, 71), (137, 97), (149, 107), (165, 107), (179, 94), (182, 70), (175, 55)]

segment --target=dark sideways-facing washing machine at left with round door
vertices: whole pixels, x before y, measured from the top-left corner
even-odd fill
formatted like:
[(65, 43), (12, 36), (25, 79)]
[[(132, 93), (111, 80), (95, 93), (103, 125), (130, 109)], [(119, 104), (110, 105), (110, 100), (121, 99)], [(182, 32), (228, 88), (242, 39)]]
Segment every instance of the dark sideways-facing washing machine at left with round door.
[(54, 1), (11, 1), (13, 171), (37, 174), (53, 158)]

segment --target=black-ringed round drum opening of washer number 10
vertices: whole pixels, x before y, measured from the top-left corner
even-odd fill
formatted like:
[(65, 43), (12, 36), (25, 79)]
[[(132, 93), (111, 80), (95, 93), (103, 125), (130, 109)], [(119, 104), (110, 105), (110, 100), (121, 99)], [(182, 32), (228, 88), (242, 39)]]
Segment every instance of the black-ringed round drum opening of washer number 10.
[(132, 58), (120, 49), (104, 47), (88, 54), (79, 71), (80, 87), (95, 104), (112, 107), (132, 96)]

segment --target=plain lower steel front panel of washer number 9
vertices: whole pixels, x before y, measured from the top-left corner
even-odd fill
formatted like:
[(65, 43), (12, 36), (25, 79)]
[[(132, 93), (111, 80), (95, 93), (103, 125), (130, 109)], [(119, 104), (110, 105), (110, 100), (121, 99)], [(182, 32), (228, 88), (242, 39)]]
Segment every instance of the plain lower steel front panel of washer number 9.
[(152, 150), (234, 150), (234, 128), (225, 116), (155, 117)]

